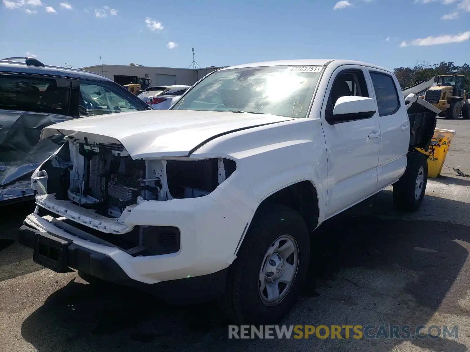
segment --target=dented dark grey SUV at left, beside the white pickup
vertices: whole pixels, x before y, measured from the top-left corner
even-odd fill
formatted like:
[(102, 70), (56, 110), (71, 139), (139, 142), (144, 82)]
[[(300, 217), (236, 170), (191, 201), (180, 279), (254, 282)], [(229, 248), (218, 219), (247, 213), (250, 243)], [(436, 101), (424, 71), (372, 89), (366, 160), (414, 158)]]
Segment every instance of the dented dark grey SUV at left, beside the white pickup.
[(57, 137), (39, 142), (44, 127), (145, 109), (151, 108), (101, 75), (29, 57), (0, 60), (0, 205), (34, 196), (31, 173), (64, 142)]

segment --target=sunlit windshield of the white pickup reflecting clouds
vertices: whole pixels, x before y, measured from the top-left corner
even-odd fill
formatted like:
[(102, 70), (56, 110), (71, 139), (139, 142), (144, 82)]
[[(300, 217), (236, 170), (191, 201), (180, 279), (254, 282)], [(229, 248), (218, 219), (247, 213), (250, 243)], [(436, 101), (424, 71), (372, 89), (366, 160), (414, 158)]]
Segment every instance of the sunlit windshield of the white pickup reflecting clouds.
[(322, 66), (223, 69), (204, 78), (173, 107), (305, 118)]

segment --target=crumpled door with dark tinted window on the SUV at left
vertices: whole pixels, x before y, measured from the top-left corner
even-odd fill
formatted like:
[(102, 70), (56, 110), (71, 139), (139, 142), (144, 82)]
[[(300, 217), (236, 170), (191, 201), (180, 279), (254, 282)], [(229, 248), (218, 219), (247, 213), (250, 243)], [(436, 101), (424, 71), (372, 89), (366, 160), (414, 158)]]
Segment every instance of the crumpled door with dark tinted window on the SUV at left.
[(29, 176), (63, 144), (41, 130), (78, 117), (76, 79), (0, 73), (0, 201), (33, 195)]

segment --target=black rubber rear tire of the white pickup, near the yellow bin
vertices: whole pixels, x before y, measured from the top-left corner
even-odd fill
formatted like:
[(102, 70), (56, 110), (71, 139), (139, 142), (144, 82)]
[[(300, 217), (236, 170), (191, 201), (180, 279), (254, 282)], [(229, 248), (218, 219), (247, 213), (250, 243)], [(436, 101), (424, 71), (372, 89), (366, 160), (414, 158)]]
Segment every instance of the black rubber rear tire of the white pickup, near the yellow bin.
[[(418, 173), (423, 173), (420, 196), (416, 199), (415, 189)], [(414, 212), (423, 203), (426, 185), (428, 183), (428, 161), (426, 155), (420, 152), (407, 154), (407, 168), (400, 179), (393, 184), (393, 204), (398, 210)]]

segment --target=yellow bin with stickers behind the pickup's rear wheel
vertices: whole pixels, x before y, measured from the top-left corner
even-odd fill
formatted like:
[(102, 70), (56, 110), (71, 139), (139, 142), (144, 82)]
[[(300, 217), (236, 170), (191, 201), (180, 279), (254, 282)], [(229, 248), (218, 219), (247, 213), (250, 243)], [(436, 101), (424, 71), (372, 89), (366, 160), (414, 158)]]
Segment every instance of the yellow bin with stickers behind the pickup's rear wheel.
[(428, 154), (428, 177), (436, 178), (440, 175), (454, 136), (454, 130), (443, 130), (440, 128), (434, 130), (431, 145), (429, 146), (428, 153), (426, 153)]

